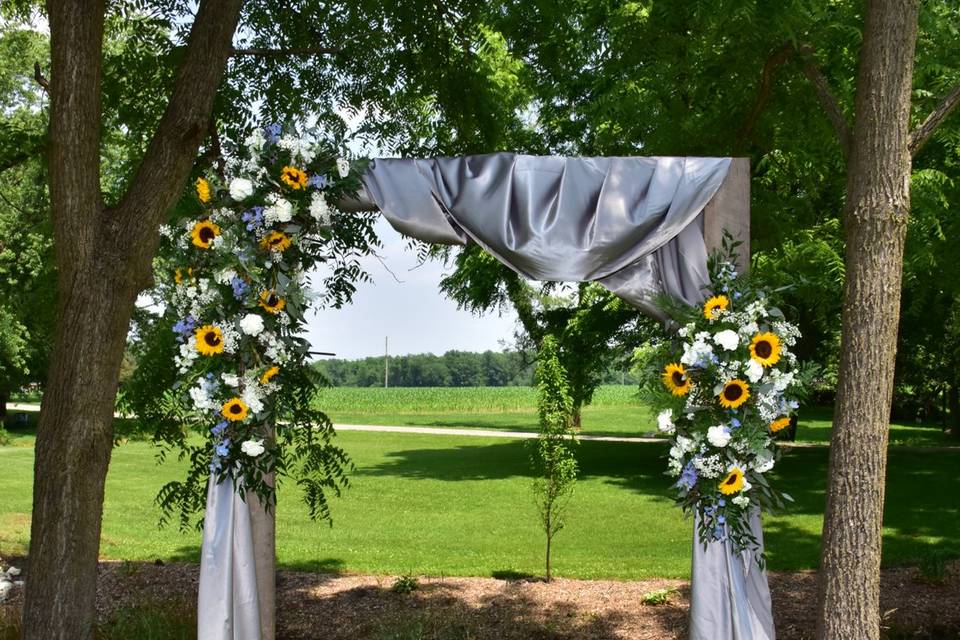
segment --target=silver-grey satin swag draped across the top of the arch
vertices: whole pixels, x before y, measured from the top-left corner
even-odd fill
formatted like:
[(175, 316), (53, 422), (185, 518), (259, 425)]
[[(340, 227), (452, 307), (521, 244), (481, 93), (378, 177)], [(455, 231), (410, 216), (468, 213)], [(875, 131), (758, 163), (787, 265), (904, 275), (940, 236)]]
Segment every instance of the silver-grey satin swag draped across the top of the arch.
[(364, 185), (401, 233), (472, 240), (532, 280), (595, 280), (659, 315), (708, 281), (700, 214), (729, 158), (563, 158), (494, 153), (375, 160)]

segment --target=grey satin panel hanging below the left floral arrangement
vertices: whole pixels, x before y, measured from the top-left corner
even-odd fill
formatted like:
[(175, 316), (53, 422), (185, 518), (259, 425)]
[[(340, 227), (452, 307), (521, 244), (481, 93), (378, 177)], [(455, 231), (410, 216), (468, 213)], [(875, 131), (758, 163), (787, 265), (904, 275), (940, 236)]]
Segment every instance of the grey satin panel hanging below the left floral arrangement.
[(260, 640), (254, 551), (247, 503), (233, 480), (217, 484), (211, 475), (200, 550), (198, 640)]

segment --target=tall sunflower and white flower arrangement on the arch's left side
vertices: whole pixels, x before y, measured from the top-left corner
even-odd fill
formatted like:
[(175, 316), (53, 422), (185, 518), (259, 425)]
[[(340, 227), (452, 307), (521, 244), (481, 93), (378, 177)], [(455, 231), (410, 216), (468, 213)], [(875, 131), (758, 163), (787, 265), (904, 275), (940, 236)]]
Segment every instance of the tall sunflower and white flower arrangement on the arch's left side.
[[(348, 461), (314, 407), (323, 381), (301, 333), (311, 303), (339, 306), (365, 275), (356, 258), (376, 245), (370, 220), (335, 209), (364, 169), (272, 125), (221, 173), (198, 177), (181, 215), (161, 228), (156, 280), (176, 341), (173, 404), (178, 422), (204, 436), (202, 445), (184, 430), (173, 438), (191, 471), (161, 491), (161, 505), (202, 504), (208, 472), (269, 504), (267, 474), (294, 470), (311, 515), (328, 516), (324, 489), (339, 490)], [(308, 273), (321, 263), (329, 275), (317, 295)]]

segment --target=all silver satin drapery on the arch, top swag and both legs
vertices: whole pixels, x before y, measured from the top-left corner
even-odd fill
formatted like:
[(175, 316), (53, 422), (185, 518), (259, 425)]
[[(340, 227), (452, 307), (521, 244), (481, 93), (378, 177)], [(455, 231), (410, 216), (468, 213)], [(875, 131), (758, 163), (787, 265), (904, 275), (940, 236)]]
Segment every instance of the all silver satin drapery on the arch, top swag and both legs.
[[(729, 158), (562, 158), (495, 153), (381, 159), (360, 206), (431, 243), (473, 241), (522, 275), (596, 281), (662, 318), (652, 296), (689, 303), (708, 282), (703, 207)], [(364, 198), (369, 201), (363, 202)], [(754, 519), (762, 544), (759, 515)], [(271, 550), (272, 552), (272, 550)], [(199, 640), (259, 640), (247, 505), (211, 480), (200, 565)], [(773, 640), (766, 574), (696, 539), (690, 603), (694, 640)]]

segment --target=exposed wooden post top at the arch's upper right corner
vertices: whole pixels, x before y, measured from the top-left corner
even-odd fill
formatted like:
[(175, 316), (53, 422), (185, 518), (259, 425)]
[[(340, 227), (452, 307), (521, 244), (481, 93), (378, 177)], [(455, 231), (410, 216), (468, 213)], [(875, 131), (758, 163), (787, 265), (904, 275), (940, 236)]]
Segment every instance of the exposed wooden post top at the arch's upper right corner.
[(727, 231), (742, 244), (737, 269), (750, 268), (750, 158), (732, 158), (730, 170), (713, 199), (703, 208), (703, 240), (707, 251), (719, 249)]

